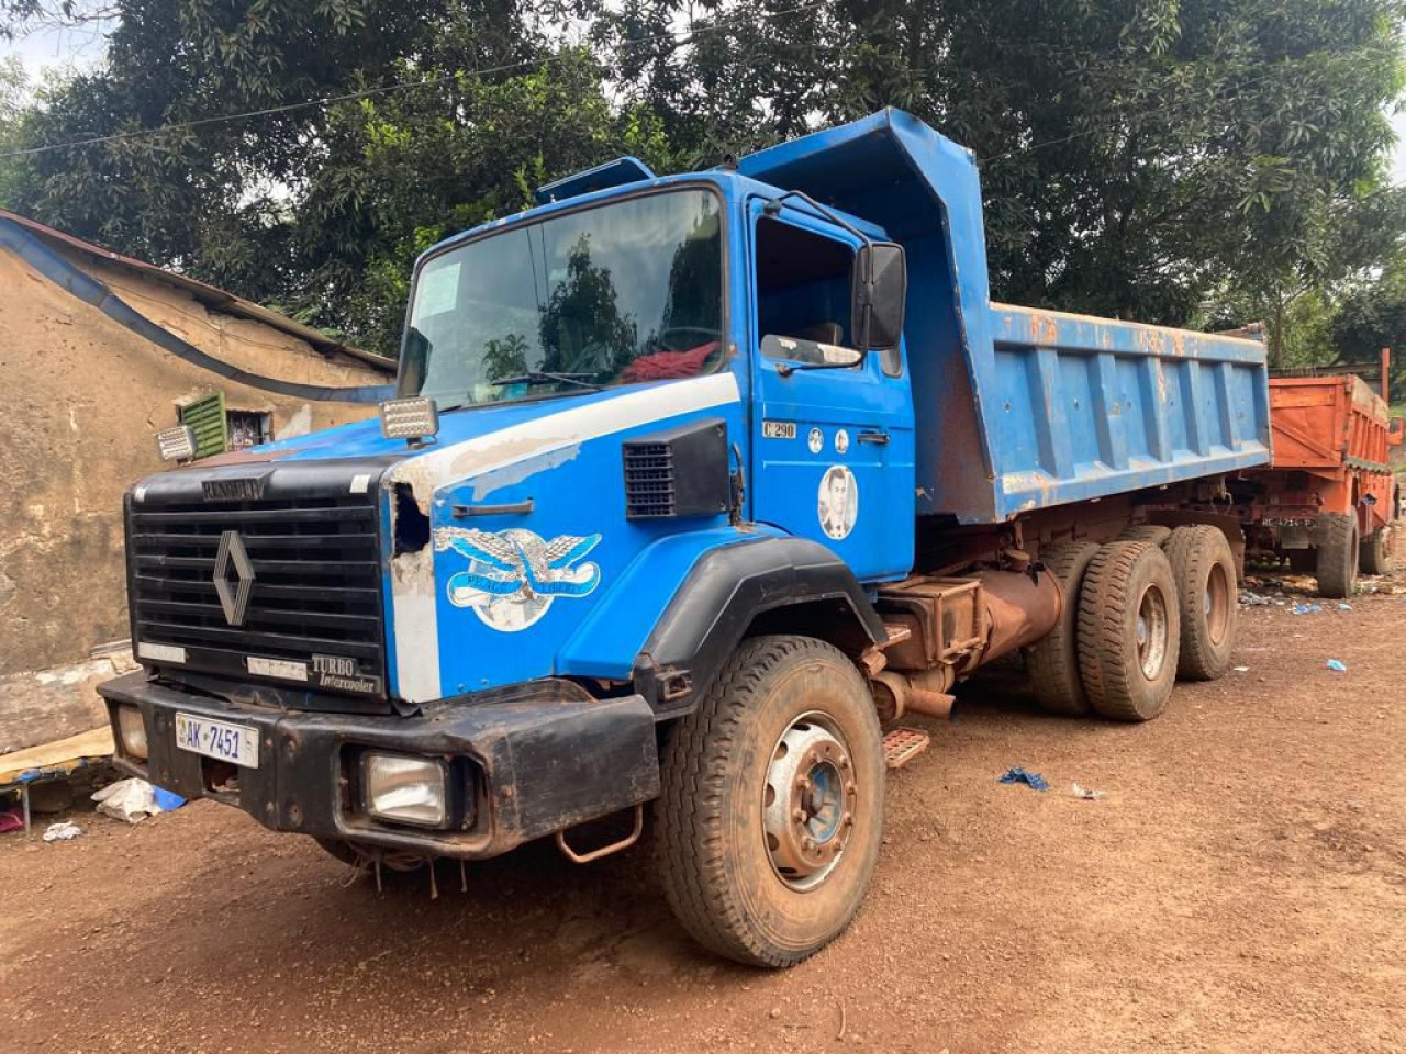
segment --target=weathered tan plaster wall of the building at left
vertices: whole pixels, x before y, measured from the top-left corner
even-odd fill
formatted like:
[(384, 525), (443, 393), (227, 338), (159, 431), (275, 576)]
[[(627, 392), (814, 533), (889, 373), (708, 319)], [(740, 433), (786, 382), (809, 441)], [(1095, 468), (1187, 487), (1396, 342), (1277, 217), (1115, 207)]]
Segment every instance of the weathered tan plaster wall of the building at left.
[[(387, 382), (260, 322), (207, 312), (159, 280), (66, 256), (157, 325), (252, 372), (337, 388)], [(177, 423), (177, 402), (218, 389), (231, 409), (270, 413), (278, 438), (374, 412), (188, 365), (0, 249), (0, 676), (84, 659), (128, 635), (122, 493), (163, 468), (152, 436)]]

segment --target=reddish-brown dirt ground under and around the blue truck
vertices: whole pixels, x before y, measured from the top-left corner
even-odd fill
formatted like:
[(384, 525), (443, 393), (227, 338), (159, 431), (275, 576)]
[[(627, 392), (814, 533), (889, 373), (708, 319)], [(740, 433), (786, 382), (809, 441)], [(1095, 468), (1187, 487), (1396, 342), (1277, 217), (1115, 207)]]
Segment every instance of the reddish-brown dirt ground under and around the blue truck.
[(855, 925), (789, 972), (690, 946), (643, 850), (441, 866), (430, 901), (211, 802), (7, 835), (0, 1047), (1406, 1050), (1406, 596), (1243, 616), (1249, 670), (1147, 725), (969, 686), (890, 779)]

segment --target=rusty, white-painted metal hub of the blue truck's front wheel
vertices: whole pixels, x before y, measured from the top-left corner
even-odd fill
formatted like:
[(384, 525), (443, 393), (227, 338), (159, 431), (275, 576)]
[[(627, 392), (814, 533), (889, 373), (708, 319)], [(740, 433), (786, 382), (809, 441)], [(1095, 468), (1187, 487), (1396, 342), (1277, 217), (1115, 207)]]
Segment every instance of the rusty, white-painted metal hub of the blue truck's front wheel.
[(762, 825), (776, 876), (813, 890), (834, 870), (855, 826), (853, 762), (817, 714), (782, 734), (766, 767)]

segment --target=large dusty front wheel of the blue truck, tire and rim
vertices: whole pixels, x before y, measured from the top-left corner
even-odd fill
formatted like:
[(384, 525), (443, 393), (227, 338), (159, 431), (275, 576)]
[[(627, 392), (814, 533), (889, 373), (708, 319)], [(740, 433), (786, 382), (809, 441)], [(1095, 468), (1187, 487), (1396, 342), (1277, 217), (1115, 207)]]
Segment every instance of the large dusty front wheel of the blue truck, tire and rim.
[(863, 679), (808, 637), (742, 642), (672, 729), (664, 891), (704, 947), (786, 967), (849, 925), (883, 835), (883, 736)]

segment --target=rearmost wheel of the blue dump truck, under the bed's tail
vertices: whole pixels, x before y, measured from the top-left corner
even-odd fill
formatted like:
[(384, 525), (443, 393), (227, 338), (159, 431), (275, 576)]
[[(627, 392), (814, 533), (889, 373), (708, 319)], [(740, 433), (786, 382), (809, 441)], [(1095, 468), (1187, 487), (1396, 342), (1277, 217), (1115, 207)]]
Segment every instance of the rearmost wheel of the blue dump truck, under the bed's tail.
[(1216, 527), (1178, 527), (1163, 552), (1171, 564), (1181, 609), (1177, 676), (1215, 680), (1230, 669), (1240, 610), (1230, 542)]

